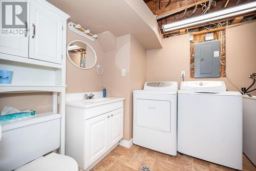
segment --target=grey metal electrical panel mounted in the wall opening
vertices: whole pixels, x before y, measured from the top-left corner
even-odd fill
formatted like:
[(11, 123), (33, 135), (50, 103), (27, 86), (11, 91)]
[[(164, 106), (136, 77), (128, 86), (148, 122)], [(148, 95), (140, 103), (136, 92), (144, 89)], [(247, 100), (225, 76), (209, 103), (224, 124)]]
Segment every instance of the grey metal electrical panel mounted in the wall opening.
[(220, 77), (220, 40), (195, 44), (195, 78)]

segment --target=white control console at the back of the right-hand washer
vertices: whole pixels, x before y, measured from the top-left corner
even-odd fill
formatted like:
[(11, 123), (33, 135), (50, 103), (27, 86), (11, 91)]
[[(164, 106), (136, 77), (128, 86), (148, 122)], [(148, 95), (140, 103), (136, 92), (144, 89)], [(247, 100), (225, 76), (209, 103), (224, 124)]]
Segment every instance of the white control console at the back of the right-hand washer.
[(226, 92), (224, 81), (183, 81), (180, 90), (193, 92)]

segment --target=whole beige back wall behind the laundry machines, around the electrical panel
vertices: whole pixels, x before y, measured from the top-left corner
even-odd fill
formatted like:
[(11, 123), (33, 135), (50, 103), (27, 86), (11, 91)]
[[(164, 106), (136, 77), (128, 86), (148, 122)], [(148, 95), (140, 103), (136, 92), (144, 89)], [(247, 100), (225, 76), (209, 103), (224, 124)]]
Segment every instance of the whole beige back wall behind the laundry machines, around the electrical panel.
[[(207, 78), (204, 80), (223, 80), (227, 89), (238, 91), (248, 87), (248, 75), (256, 72), (256, 22), (226, 29), (227, 78)], [(253, 48), (254, 47), (254, 48)], [(253, 71), (254, 70), (254, 71)], [(189, 34), (165, 38), (163, 49), (149, 50), (146, 57), (147, 81), (182, 81), (181, 71), (189, 78)], [(231, 82), (232, 83), (231, 83)], [(254, 93), (255, 94), (255, 93)]]

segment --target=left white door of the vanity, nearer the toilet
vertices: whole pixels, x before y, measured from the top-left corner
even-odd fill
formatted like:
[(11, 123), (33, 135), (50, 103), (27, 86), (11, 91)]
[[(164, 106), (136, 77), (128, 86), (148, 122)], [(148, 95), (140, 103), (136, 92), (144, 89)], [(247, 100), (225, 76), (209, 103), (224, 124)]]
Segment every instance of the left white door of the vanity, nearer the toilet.
[(84, 168), (90, 166), (109, 149), (109, 113), (85, 121)]

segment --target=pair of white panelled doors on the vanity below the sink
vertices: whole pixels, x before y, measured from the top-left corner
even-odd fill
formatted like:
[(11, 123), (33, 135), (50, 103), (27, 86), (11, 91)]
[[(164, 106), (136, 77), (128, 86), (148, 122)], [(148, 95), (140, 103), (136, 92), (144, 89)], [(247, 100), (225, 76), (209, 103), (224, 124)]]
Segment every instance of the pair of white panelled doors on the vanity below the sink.
[(123, 108), (85, 121), (85, 167), (109, 151), (123, 137)]

